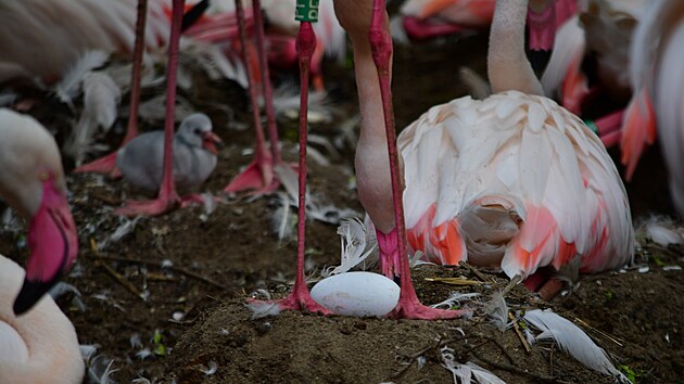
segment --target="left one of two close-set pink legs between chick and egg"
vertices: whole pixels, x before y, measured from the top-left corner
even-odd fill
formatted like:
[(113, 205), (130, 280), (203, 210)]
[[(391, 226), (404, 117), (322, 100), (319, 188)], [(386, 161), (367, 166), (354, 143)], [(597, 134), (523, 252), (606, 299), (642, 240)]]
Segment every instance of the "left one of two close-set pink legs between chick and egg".
[[(240, 0), (236, 0), (236, 13), (238, 16), (238, 26), (240, 30), (240, 44), (242, 46), (242, 57), (246, 64), (248, 88), (250, 91), (250, 102), (252, 104), (252, 117), (254, 120), (256, 143), (254, 148), (254, 159), (252, 161), (252, 163), (246, 167), (244, 171), (238, 175), (224, 189), (224, 191), (227, 193), (231, 193), (231, 192), (241, 192), (245, 190), (256, 190), (255, 192), (256, 194), (269, 193), (269, 192), (275, 191), (278, 188), (279, 182), (275, 178), (275, 175), (274, 175), (274, 157), (271, 153), (268, 153), (268, 151), (266, 150), (266, 143), (264, 139), (264, 128), (262, 127), (262, 118), (259, 116), (259, 111), (258, 111), (258, 102), (257, 102), (257, 94), (256, 94), (256, 88), (255, 88), (255, 74), (252, 73), (252, 66), (249, 63), (250, 51), (248, 49), (246, 27), (244, 26), (244, 10), (242, 8), (242, 2)], [(258, 10), (258, 12), (255, 10), (255, 15), (254, 15), (255, 22), (256, 22), (257, 13), (261, 13), (261, 9)], [(259, 29), (259, 27), (256, 27), (256, 28)], [(261, 54), (259, 54), (259, 61), (263, 59), (261, 57)], [(274, 117), (274, 129), (276, 129), (275, 117)], [(271, 132), (271, 140), (273, 140), (273, 132)], [(275, 143), (271, 142), (271, 151), (275, 152), (276, 150), (274, 150), (274, 146), (277, 149), (278, 146), (277, 141)], [(279, 156), (280, 156), (280, 152), (278, 151), (278, 157)]]

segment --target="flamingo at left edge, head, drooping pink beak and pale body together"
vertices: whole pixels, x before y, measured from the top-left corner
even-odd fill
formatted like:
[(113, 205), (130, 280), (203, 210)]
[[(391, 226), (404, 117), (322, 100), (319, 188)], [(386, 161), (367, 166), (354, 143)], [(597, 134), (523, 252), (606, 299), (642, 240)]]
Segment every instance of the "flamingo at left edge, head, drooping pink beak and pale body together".
[(0, 196), (28, 222), (31, 249), (26, 273), (0, 255), (0, 383), (80, 383), (74, 327), (42, 297), (78, 253), (54, 139), (34, 118), (1, 108), (0, 168)]

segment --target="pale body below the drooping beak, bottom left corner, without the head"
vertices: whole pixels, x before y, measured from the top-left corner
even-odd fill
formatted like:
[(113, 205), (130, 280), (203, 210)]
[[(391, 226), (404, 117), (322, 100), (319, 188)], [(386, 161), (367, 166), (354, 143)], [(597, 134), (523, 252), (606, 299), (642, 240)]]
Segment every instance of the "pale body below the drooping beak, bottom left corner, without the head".
[(76, 331), (51, 297), (25, 315), (12, 312), (24, 270), (0, 255), (0, 383), (79, 384), (86, 367)]

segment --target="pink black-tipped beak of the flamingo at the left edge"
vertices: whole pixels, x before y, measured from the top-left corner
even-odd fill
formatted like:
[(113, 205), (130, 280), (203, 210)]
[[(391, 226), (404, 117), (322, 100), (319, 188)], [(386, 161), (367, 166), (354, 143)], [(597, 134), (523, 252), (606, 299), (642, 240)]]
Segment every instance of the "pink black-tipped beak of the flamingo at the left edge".
[(55, 188), (52, 176), (42, 184), (42, 201), (28, 229), (31, 254), (26, 277), (14, 300), (17, 316), (29, 310), (60, 280), (78, 254), (76, 226), (65, 193)]

